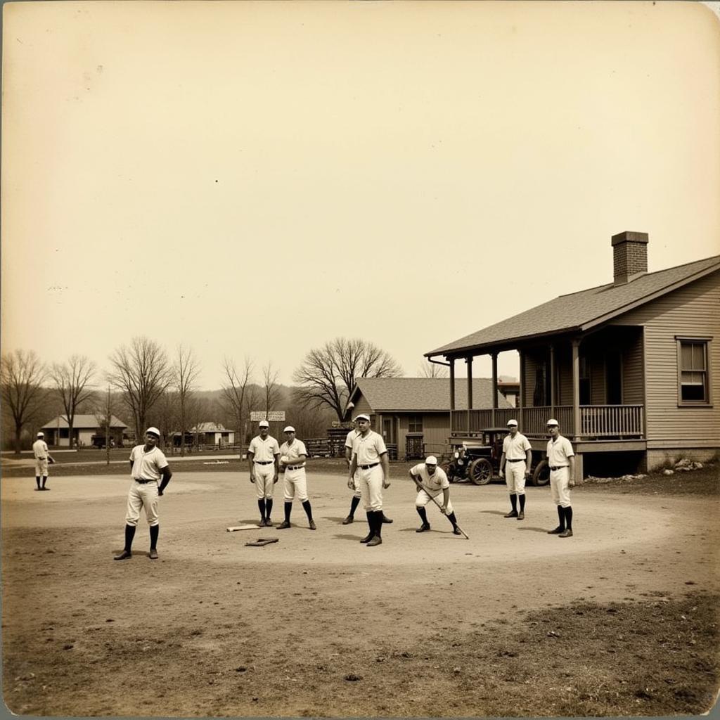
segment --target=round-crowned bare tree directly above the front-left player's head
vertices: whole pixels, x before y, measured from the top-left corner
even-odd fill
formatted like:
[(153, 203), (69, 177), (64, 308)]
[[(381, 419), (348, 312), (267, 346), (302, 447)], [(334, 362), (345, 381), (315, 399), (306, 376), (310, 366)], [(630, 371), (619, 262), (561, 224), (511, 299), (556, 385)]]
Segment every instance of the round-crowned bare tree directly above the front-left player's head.
[(154, 340), (132, 338), (129, 347), (123, 345), (114, 351), (110, 364), (108, 379), (122, 392), (135, 423), (135, 438), (141, 438), (148, 413), (171, 381), (167, 355)]

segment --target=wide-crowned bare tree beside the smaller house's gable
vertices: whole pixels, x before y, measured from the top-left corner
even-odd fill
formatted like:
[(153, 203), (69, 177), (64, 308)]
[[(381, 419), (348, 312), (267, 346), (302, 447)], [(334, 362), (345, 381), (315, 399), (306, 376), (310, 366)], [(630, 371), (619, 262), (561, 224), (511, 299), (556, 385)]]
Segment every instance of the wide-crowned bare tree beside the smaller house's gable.
[(332, 408), (343, 420), (348, 396), (358, 377), (400, 377), (395, 359), (359, 338), (335, 338), (312, 349), (293, 374), (296, 397), (307, 408)]

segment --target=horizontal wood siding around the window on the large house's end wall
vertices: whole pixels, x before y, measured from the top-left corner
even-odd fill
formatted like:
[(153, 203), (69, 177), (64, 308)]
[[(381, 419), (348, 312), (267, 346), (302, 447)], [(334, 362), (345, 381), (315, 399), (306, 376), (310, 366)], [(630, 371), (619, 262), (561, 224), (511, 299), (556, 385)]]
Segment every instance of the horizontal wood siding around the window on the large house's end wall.
[[(720, 273), (711, 274), (614, 321), (644, 325), (645, 405), (648, 447), (676, 442), (720, 446)], [(710, 343), (710, 398), (713, 407), (678, 407), (678, 348), (675, 336), (705, 338)], [(635, 356), (639, 351), (634, 348)], [(637, 392), (637, 378), (631, 388)]]

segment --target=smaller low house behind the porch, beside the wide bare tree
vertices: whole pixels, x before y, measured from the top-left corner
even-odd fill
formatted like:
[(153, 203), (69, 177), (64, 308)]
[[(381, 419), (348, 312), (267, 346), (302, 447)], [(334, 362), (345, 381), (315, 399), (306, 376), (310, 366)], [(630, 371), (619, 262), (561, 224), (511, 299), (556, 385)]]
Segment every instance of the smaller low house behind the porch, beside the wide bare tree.
[[(456, 407), (468, 407), (467, 390), (467, 382), (456, 382)], [(492, 406), (492, 380), (475, 378), (471, 394), (472, 403)], [(448, 378), (361, 377), (350, 395), (354, 408), (349, 414), (352, 418), (359, 413), (370, 415), (373, 429), (386, 444), (397, 445), (400, 459), (421, 458), (441, 454), (449, 446), (449, 396)], [(496, 400), (499, 408), (510, 408), (497, 391)]]

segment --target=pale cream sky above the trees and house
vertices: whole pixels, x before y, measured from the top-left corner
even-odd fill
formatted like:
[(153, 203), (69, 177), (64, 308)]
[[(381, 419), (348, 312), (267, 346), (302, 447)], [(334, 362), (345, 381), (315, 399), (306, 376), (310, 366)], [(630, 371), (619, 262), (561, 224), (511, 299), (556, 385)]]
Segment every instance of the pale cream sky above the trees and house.
[(107, 369), (145, 335), (214, 390), (225, 356), (289, 383), (347, 336), (414, 376), (611, 282), (615, 233), (649, 233), (650, 271), (720, 253), (703, 4), (3, 9), (4, 352)]

